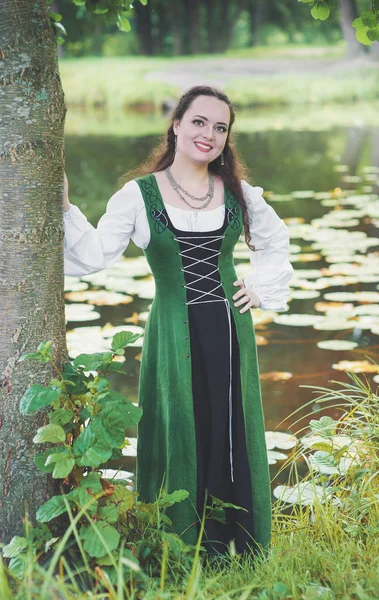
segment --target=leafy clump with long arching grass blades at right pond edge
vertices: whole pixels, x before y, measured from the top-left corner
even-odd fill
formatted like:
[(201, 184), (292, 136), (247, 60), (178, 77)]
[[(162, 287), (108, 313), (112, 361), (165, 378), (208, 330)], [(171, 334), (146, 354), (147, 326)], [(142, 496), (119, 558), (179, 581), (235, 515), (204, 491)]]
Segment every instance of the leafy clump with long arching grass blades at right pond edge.
[[(333, 382), (342, 389), (302, 386), (321, 392), (316, 403), (330, 408), (332, 401), (341, 416), (310, 421), (310, 431), (284, 465), (291, 464), (296, 483), (277, 486), (274, 495), (292, 505), (332, 503), (343, 530), (364, 538), (372, 533), (373, 513), (379, 514), (379, 397), (368, 382), (348, 375), (353, 383)], [(296, 463), (302, 459), (309, 471), (300, 478)]]

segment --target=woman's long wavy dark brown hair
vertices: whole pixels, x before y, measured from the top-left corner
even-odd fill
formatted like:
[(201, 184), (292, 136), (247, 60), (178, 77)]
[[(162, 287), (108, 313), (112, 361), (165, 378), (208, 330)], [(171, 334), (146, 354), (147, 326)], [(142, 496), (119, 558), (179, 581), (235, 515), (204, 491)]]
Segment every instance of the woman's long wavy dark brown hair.
[(185, 92), (170, 116), (170, 126), (166, 135), (161, 139), (158, 145), (153, 148), (144, 163), (120, 177), (118, 185), (124, 185), (127, 181), (142, 175), (148, 175), (155, 171), (163, 171), (172, 165), (175, 158), (174, 121), (180, 121), (183, 118), (184, 114), (187, 112), (197, 96), (214, 96), (215, 98), (222, 100), (222, 102), (225, 102), (225, 104), (227, 104), (229, 107), (230, 123), (223, 150), (224, 165), (221, 165), (221, 156), (218, 156), (215, 160), (209, 163), (208, 170), (211, 173), (221, 177), (226, 186), (232, 192), (233, 196), (236, 198), (237, 202), (240, 204), (242, 209), (242, 220), (246, 244), (250, 250), (255, 250), (254, 246), (250, 243), (251, 237), (249, 231), (249, 216), (241, 185), (241, 179), (248, 178), (248, 169), (246, 164), (237, 155), (234, 144), (235, 138), (231, 133), (231, 128), (235, 121), (235, 111), (226, 94), (217, 88), (207, 85), (197, 85)]

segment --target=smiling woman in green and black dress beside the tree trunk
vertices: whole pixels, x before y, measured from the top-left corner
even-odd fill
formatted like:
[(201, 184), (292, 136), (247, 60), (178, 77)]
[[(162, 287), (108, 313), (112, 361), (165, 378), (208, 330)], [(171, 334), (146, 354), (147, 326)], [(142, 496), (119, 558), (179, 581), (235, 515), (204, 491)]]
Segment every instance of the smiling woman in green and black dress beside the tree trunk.
[[(196, 543), (211, 496), (241, 507), (206, 519), (209, 554), (224, 554), (231, 540), (240, 553), (270, 542), (250, 309), (286, 310), (292, 274), (285, 224), (262, 188), (243, 179), (230, 140), (234, 118), (222, 92), (208, 86), (186, 92), (144, 174), (111, 197), (97, 229), (69, 204), (67, 179), (65, 194), (66, 274), (109, 267), (130, 239), (149, 262), (156, 295), (142, 351), (136, 489), (145, 502), (156, 499), (162, 482), (168, 493), (189, 491), (167, 510), (187, 543)], [(242, 232), (253, 266), (244, 281), (232, 255)]]

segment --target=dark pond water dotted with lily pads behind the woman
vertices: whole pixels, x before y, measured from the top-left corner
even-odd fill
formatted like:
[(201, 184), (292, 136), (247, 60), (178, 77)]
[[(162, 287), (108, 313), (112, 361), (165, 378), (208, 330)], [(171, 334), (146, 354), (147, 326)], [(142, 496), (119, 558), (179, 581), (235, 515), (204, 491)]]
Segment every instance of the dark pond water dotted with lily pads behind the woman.
[[(155, 135), (66, 136), (70, 200), (92, 224), (118, 189), (118, 178), (142, 162), (157, 141)], [(253, 320), (266, 429), (296, 433), (309, 418), (294, 424), (299, 417), (287, 419), (290, 413), (307, 403), (302, 415), (319, 410), (312, 402), (318, 394), (303, 385), (335, 388), (332, 380), (350, 382), (348, 370), (365, 373), (373, 389), (379, 382), (373, 362), (379, 362), (379, 127), (239, 133), (237, 148), (250, 169), (250, 183), (264, 188), (291, 234), (295, 273), (289, 311), (254, 310)], [(244, 276), (249, 262), (243, 240), (235, 262)], [(67, 277), (65, 287), (72, 357), (108, 349), (119, 328), (143, 331), (154, 284), (133, 244), (113, 268)], [(112, 375), (116, 389), (133, 402), (140, 346), (127, 349), (126, 375)], [(333, 409), (328, 414), (338, 415)], [(129, 470), (133, 448), (125, 456)]]

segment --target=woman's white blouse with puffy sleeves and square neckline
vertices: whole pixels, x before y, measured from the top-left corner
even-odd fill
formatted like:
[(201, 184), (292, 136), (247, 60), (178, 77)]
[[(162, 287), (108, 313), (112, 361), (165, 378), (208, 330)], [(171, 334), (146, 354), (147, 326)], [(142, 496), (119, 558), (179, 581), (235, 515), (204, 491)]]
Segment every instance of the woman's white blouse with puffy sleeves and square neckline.
[[(289, 262), (289, 233), (285, 223), (262, 197), (263, 189), (242, 180), (247, 202), (254, 252), (249, 251), (251, 273), (245, 287), (259, 297), (260, 308), (288, 309), (288, 284), (293, 268)], [(225, 205), (213, 210), (196, 211), (165, 204), (168, 215), (182, 231), (211, 231), (224, 222)], [(145, 249), (150, 242), (150, 227), (138, 183), (133, 179), (109, 199), (97, 228), (78, 206), (64, 213), (64, 272), (88, 275), (110, 267), (126, 250), (130, 240)]]

